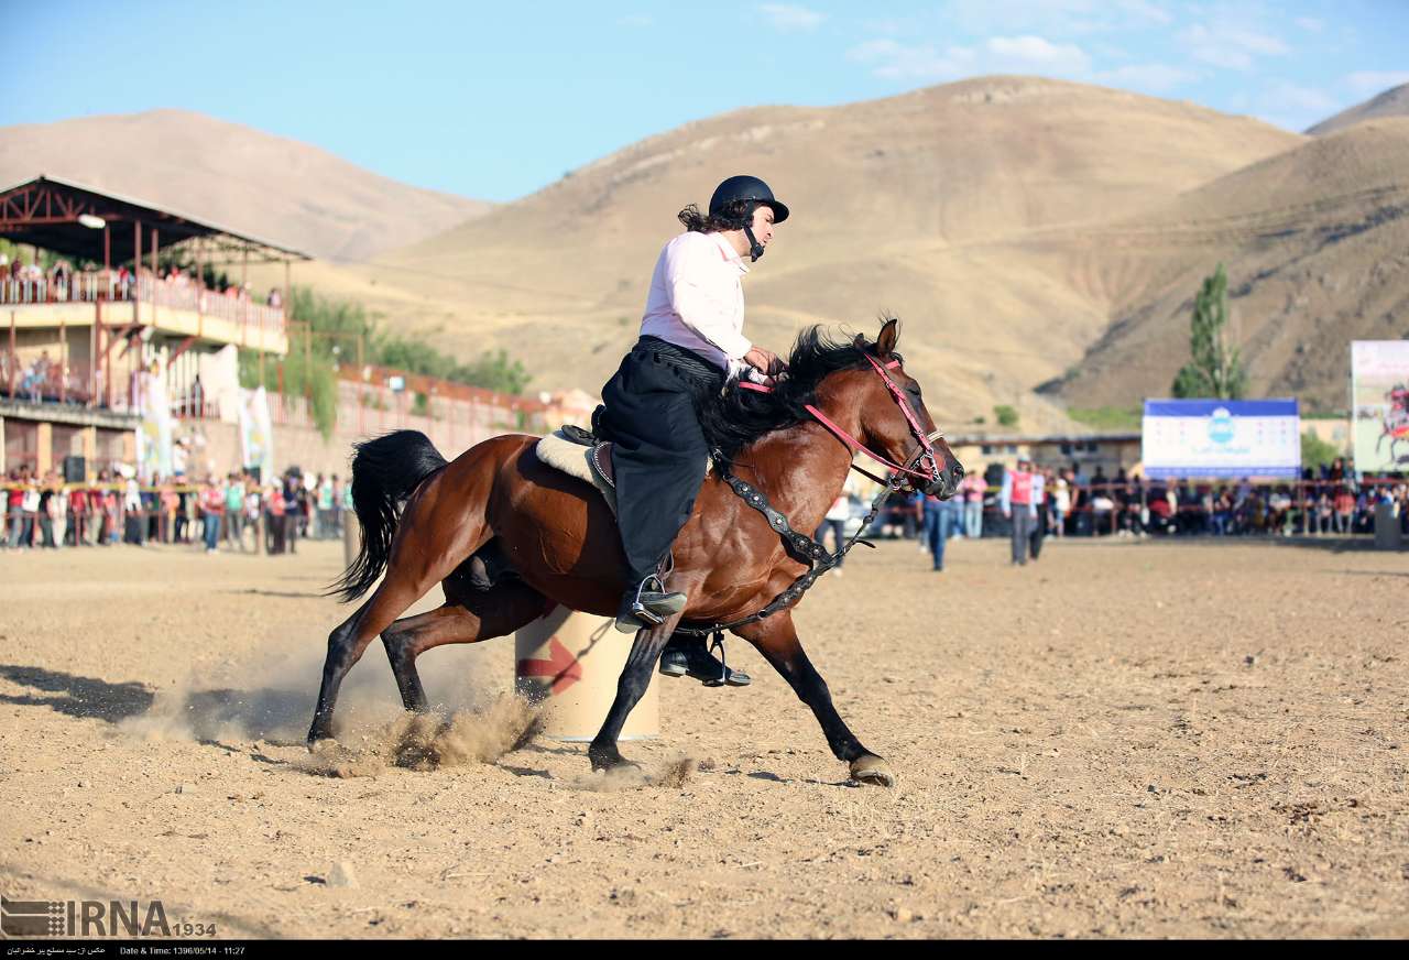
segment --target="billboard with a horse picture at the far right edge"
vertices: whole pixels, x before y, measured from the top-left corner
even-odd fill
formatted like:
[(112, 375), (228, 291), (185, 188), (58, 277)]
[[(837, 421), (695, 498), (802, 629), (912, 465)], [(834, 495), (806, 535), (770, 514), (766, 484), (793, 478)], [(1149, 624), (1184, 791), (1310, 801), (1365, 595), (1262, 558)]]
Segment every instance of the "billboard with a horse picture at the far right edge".
[(1350, 416), (1357, 471), (1409, 471), (1409, 340), (1350, 344)]

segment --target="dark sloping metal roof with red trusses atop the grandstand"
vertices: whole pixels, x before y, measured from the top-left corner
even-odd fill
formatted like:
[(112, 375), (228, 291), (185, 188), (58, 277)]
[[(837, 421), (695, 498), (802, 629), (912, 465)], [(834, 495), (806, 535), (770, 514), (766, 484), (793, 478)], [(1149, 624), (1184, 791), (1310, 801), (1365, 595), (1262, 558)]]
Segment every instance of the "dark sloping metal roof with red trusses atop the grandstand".
[(125, 264), (138, 251), (151, 252), (152, 230), (162, 250), (200, 238), (201, 259), (207, 264), (313, 259), (302, 251), (145, 200), (42, 175), (0, 190), (0, 237), (75, 259)]

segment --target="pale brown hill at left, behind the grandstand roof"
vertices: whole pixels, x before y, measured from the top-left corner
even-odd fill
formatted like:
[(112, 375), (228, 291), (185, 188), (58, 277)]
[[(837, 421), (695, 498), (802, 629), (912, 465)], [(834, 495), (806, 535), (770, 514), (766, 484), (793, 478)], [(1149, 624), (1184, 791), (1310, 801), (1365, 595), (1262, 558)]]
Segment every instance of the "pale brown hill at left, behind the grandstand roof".
[(404, 247), (489, 209), (183, 110), (0, 128), (0, 185), (39, 173), (342, 261)]

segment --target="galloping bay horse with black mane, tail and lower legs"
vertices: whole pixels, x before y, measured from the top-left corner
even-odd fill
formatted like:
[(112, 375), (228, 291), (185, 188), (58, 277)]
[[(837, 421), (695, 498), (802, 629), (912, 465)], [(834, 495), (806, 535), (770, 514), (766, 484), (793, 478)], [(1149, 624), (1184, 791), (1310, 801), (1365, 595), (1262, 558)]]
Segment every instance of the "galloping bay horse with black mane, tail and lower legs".
[[(952, 496), (964, 468), (934, 429), (920, 386), (895, 352), (899, 324), (883, 323), (875, 343), (833, 341), (812, 327), (799, 334), (788, 376), (771, 392), (726, 390), (702, 410), (716, 448), (689, 520), (676, 537), (669, 588), (685, 609), (637, 633), (616, 699), (588, 749), (593, 770), (627, 763), (617, 737), (651, 681), (666, 640), (682, 623), (747, 617), (807, 570), (769, 520), (719, 476), (727, 467), (761, 492), (792, 527), (817, 529), (840, 496), (854, 448), (881, 451), (923, 479), (917, 489)], [(382, 637), (406, 709), (427, 710), (416, 658), (447, 643), (502, 637), (555, 605), (614, 616), (626, 577), (616, 520), (589, 484), (542, 464), (538, 437), (507, 434), (466, 450), (454, 462), (417, 431), (362, 443), (352, 462), (352, 502), (362, 551), (334, 585), (344, 602), (386, 578), (328, 636), (323, 687), (309, 744), (333, 737), (338, 687), (373, 637)], [(872, 454), (875, 455), (875, 454)], [(924, 467), (921, 472), (913, 469)], [(404, 506), (402, 506), (404, 503)], [(399, 509), (400, 507), (400, 509)], [(472, 558), (514, 575), (472, 575)], [(440, 582), (444, 606), (399, 620)], [(827, 744), (861, 782), (893, 785), (889, 765), (847, 729), (827, 684), (803, 653), (790, 608), (733, 633), (748, 640), (812, 708)]]

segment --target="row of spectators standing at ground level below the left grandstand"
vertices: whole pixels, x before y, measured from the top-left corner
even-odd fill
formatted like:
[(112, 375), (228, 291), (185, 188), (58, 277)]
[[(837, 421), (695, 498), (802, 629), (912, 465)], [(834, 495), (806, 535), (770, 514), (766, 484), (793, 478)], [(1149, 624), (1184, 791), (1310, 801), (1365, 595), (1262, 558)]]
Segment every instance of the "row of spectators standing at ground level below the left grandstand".
[(261, 484), (249, 474), (204, 482), (101, 471), (92, 484), (63, 484), (56, 472), (10, 471), (4, 484), (6, 530), (0, 547), (31, 550), (118, 543), (189, 544), (216, 554), (296, 553), (303, 539), (338, 539), (352, 509), (351, 484), (335, 474), (290, 468)]

